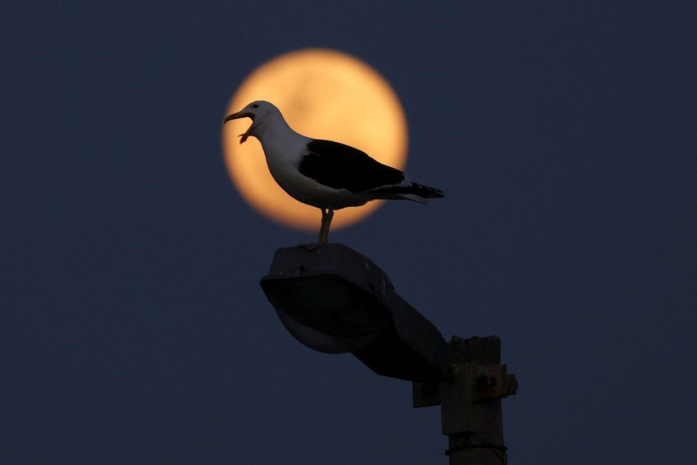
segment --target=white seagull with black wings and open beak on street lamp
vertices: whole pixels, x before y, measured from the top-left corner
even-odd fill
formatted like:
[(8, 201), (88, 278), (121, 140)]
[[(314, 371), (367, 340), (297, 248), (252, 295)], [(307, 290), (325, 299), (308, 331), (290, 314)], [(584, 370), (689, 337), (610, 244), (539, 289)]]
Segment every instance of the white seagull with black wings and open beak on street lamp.
[(329, 240), (334, 210), (361, 206), (378, 199), (407, 199), (426, 204), (443, 192), (408, 180), (398, 169), (371, 159), (365, 152), (339, 142), (311, 139), (291, 129), (281, 111), (268, 101), (253, 101), (223, 124), (249, 118), (240, 144), (254, 136), (264, 149), (274, 180), (289, 196), (322, 211), (318, 244)]

